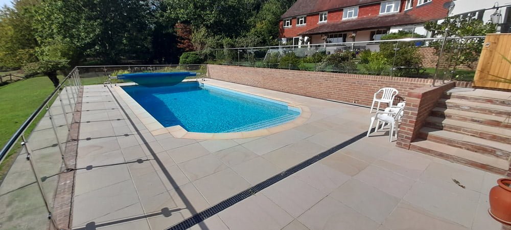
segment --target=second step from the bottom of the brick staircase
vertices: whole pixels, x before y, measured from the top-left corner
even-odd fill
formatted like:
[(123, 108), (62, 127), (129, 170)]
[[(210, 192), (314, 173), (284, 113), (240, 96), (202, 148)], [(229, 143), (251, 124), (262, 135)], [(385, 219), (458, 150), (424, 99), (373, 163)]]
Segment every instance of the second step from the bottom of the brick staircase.
[(472, 152), (493, 156), (508, 160), (511, 156), (511, 145), (485, 140), (475, 136), (463, 135), (460, 133), (438, 130), (429, 127), (421, 129), (419, 136), (422, 139), (446, 144), (452, 147), (466, 149)]

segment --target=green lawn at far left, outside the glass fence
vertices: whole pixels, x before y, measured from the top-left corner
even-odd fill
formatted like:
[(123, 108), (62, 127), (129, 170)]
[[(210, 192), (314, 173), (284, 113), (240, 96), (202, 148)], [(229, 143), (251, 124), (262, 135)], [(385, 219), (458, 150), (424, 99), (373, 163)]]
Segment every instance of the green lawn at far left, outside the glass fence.
[[(59, 76), (62, 79), (62, 76)], [(47, 77), (35, 77), (0, 86), (0, 148), (9, 141), (12, 134), (27, 120), (41, 103), (55, 90)], [(27, 129), (26, 137), (42, 118), (41, 113)], [(19, 141), (18, 141), (19, 142)], [(18, 153), (16, 145), (0, 165), (0, 181), (9, 170)]]

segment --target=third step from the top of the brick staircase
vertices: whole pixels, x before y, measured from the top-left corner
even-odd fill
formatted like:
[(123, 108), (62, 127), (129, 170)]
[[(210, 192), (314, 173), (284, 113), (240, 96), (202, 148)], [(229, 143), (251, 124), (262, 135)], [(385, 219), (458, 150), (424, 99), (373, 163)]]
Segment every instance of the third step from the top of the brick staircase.
[(466, 121), (472, 122), (476, 124), (490, 125), (495, 127), (502, 128), (511, 128), (511, 124), (509, 124), (509, 118), (506, 117), (498, 117), (489, 114), (477, 113), (477, 112), (469, 112), (462, 111), (456, 109), (447, 109), (436, 107), (433, 108), (432, 116), (439, 118), (449, 118), (458, 121)]

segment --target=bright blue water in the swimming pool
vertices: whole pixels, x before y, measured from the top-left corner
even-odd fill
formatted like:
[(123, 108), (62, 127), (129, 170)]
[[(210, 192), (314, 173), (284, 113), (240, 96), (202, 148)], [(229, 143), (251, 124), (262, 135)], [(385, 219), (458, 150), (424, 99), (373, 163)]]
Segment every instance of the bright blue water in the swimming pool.
[(164, 127), (180, 125), (189, 132), (251, 131), (289, 122), (300, 114), (283, 102), (199, 82), (123, 89)]

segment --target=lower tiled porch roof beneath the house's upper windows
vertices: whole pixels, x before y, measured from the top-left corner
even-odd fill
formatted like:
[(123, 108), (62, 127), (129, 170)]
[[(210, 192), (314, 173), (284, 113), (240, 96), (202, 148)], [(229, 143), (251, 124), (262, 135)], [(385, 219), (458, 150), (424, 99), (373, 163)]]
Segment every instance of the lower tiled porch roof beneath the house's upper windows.
[(420, 19), (409, 14), (390, 14), (376, 17), (362, 17), (357, 19), (342, 20), (340, 22), (322, 24), (308, 31), (299, 33), (298, 35), (377, 29), (389, 26), (419, 24), (425, 21), (426, 20), (424, 19)]

